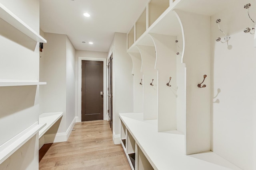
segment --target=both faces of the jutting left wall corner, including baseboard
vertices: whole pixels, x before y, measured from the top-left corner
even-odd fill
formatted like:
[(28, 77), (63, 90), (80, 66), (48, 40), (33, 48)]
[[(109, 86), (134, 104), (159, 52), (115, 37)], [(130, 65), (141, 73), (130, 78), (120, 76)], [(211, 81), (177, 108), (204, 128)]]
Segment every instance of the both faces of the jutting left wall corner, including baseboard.
[[(42, 33), (42, 31), (41, 31)], [(63, 112), (44, 136), (45, 143), (66, 141), (75, 119), (75, 49), (66, 35), (44, 33), (40, 58), (40, 113)], [(56, 135), (56, 136), (55, 136)]]

